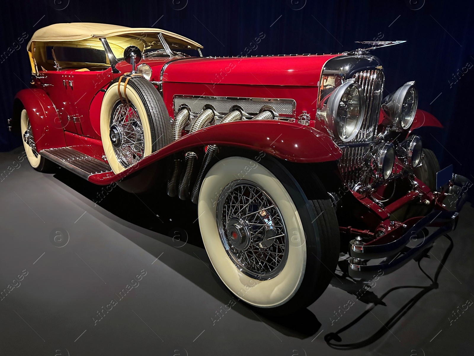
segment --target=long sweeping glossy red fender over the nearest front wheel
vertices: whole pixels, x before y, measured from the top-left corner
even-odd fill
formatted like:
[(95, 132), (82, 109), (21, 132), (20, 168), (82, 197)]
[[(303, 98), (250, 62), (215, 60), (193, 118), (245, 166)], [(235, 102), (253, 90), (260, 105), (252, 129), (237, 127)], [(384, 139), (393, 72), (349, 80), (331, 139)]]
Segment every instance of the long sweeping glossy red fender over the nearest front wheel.
[(297, 163), (327, 162), (342, 156), (342, 151), (327, 134), (308, 126), (284, 121), (228, 122), (185, 135), (119, 174), (99, 173), (90, 176), (89, 181), (110, 184), (173, 153), (211, 144), (263, 151)]

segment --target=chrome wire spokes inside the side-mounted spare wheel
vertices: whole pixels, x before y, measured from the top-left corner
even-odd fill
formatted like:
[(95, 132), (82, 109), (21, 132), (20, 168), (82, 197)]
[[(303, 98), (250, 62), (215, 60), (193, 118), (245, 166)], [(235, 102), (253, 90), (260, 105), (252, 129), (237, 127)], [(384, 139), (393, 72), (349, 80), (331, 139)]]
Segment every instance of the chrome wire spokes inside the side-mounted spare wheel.
[(118, 101), (110, 115), (109, 137), (120, 164), (128, 168), (144, 157), (145, 138), (137, 109)]

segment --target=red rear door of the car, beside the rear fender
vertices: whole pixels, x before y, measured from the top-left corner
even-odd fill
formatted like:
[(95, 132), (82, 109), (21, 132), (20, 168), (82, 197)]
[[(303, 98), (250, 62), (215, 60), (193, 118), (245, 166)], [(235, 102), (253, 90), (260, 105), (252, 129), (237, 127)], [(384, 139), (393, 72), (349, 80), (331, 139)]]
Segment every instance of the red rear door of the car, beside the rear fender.
[(57, 124), (66, 131), (82, 134), (81, 124), (77, 120), (76, 106), (74, 105), (70, 71), (47, 70), (41, 71), (40, 75), (43, 77), (41, 85), (55, 104), (58, 112), (59, 120)]

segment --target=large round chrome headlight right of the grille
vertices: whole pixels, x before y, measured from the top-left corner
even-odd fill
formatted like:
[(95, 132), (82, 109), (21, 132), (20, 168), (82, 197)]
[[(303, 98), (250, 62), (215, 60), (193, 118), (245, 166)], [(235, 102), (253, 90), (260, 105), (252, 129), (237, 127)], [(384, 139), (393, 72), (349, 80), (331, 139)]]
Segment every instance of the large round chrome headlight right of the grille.
[(382, 108), (395, 127), (407, 130), (413, 123), (417, 106), (418, 90), (415, 82), (408, 82), (389, 95)]

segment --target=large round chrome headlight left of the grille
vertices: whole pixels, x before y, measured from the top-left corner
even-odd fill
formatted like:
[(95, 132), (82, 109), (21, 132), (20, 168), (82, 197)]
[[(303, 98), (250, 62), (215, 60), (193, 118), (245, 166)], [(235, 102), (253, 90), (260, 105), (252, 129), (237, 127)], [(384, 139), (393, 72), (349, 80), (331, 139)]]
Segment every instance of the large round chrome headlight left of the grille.
[(348, 80), (339, 85), (328, 99), (326, 119), (336, 138), (343, 142), (354, 139), (360, 130), (365, 113), (364, 90), (360, 84)]

